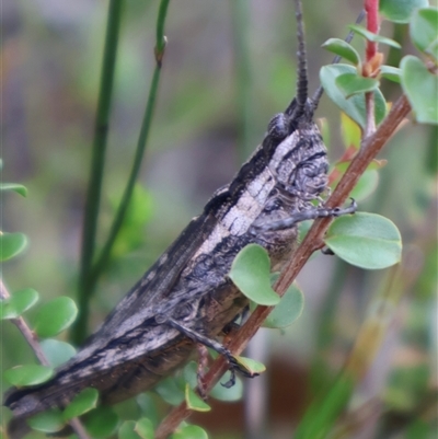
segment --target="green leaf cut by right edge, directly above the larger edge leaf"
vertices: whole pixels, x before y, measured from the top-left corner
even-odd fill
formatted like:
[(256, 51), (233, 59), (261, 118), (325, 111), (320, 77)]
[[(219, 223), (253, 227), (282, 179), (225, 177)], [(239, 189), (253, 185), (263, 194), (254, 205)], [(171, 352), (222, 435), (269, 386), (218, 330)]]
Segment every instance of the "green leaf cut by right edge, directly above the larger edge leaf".
[(416, 48), (438, 60), (438, 9), (424, 8), (412, 15), (410, 33)]

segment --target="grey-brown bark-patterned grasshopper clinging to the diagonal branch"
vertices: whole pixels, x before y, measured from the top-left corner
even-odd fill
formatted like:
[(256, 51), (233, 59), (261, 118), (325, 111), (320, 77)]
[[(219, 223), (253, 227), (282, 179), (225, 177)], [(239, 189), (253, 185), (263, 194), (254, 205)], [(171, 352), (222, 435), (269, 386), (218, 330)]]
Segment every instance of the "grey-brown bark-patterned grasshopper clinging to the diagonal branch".
[(354, 204), (327, 209), (321, 198), (328, 162), (313, 112), (322, 91), (308, 99), (299, 1), (297, 22), (297, 97), (274, 116), (262, 145), (232, 182), (214, 194), (55, 378), (8, 393), (4, 404), (15, 417), (64, 406), (88, 386), (96, 388), (104, 403), (126, 400), (184, 365), (197, 343), (224, 355), (231, 371), (247, 374), (216, 340), (249, 304), (227, 276), (233, 258), (257, 243), (269, 253), (273, 270), (279, 270), (291, 256), (299, 221), (355, 211)]

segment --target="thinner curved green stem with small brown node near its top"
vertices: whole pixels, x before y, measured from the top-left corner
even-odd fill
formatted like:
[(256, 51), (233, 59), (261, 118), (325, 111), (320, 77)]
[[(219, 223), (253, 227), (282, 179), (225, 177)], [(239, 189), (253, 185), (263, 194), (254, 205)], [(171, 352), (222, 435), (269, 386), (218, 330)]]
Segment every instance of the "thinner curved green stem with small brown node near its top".
[(105, 266), (108, 263), (108, 259), (111, 256), (111, 251), (113, 249), (114, 242), (117, 239), (117, 234), (120, 231), (123, 221), (125, 219), (126, 212), (129, 207), (129, 203), (132, 198), (134, 187), (135, 187), (136, 181), (138, 178), (141, 162), (142, 162), (142, 159), (145, 155), (145, 150), (146, 150), (146, 146), (147, 146), (148, 137), (149, 137), (149, 131), (150, 131), (152, 117), (153, 117), (153, 111), (154, 111), (155, 101), (157, 101), (158, 88), (159, 88), (160, 76), (161, 76), (161, 62), (162, 62), (162, 58), (163, 58), (164, 49), (165, 49), (165, 36), (164, 36), (163, 32), (164, 32), (164, 21), (165, 21), (165, 16), (166, 16), (169, 2), (170, 2), (170, 0), (162, 0), (160, 3), (160, 10), (159, 10), (158, 22), (157, 22), (157, 45), (155, 45), (157, 66), (155, 66), (155, 69), (153, 71), (153, 76), (152, 76), (148, 102), (146, 105), (145, 116), (143, 116), (142, 124), (141, 124), (140, 135), (139, 135), (138, 141), (137, 141), (136, 153), (135, 153), (132, 166), (130, 170), (128, 183), (126, 184), (120, 204), (119, 204), (117, 212), (114, 217), (114, 221), (112, 223), (108, 238), (107, 238), (107, 240), (102, 249), (102, 252), (101, 252), (96, 263), (94, 264), (93, 269), (90, 275), (90, 282), (92, 286), (92, 290), (94, 290), (94, 287), (99, 279), (99, 276), (101, 275), (101, 273), (103, 272), (103, 269), (105, 268)]

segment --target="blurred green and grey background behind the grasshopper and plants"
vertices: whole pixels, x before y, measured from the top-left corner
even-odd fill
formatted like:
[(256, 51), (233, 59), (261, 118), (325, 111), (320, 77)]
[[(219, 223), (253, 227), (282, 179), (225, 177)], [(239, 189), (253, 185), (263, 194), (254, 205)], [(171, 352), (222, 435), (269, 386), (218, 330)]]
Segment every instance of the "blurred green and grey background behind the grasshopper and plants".
[[(263, 139), (270, 117), (289, 104), (296, 68), (291, 3), (171, 2), (169, 44), (146, 160), (134, 208), (92, 301), (93, 327), (201, 211), (212, 192), (229, 182)], [(319, 68), (331, 60), (320, 45), (328, 37), (344, 37), (361, 3), (304, 3), (312, 93)], [(148, 96), (157, 12), (157, 1), (125, 2), (100, 217), (102, 243), (131, 165)], [(2, 230), (24, 232), (30, 239), (27, 252), (3, 265), (11, 291), (32, 287), (44, 299), (74, 298), (106, 15), (107, 1), (2, 2), (2, 180), (28, 188), (27, 198), (8, 193), (1, 199)], [(383, 35), (403, 45), (401, 54), (390, 54), (396, 65), (397, 57), (414, 51), (407, 27), (382, 27)], [(389, 101), (401, 94), (388, 82), (382, 91)], [(344, 148), (339, 112), (323, 96), (316, 117), (327, 118), (334, 162)], [(437, 391), (436, 148), (436, 130), (407, 122), (381, 154), (388, 164), (379, 171), (378, 188), (359, 206), (393, 220), (404, 241), (405, 258), (399, 268), (402, 300), (392, 313), (383, 348), (355, 396), (357, 405), (383, 401), (387, 437), (400, 428), (404, 431), (404, 419), (420, 416), (418, 407)], [(330, 380), (343, 366), (385, 276), (322, 255), (303, 269), (303, 315), (281, 333), (265, 330), (258, 340), (261, 354), (254, 355), (268, 367), (268, 385), (258, 400), (265, 403), (261, 413), (268, 419), (269, 437), (290, 436), (314, 383)], [(32, 359), (8, 322), (1, 338), (3, 369)], [(315, 378), (320, 361), (324, 367), (318, 368)], [(420, 384), (403, 378), (404, 370), (415, 368), (426, 377)], [(215, 438), (240, 438), (243, 413), (242, 403), (217, 403), (196, 421)], [(369, 425), (364, 437), (378, 437), (371, 436), (376, 428)]]

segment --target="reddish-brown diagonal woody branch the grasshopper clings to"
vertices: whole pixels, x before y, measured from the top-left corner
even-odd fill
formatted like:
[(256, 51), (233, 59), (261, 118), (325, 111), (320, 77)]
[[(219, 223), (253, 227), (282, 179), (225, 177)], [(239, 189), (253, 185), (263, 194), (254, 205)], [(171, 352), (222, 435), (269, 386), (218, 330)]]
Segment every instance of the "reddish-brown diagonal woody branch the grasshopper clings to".
[[(367, 166), (380, 152), (410, 112), (411, 105), (407, 102), (407, 99), (403, 95), (392, 106), (391, 112), (379, 126), (377, 131), (371, 137), (364, 139), (362, 148), (353, 159), (349, 167), (341, 178), (332, 196), (328, 198), (326, 204), (327, 207), (333, 208), (345, 203)], [(281, 272), (280, 277), (274, 286), (274, 289), (279, 296), (283, 296), (286, 292), (287, 288), (292, 284), (311, 254), (323, 246), (323, 236), (331, 221), (330, 218), (321, 218), (314, 221), (309, 233), (306, 235), (301, 245), (297, 249), (297, 252), (293, 254), (287, 267)], [(247, 322), (237, 332), (235, 336), (227, 346), (233, 355), (242, 353), (247, 342), (258, 331), (272, 310), (272, 307), (257, 307), (255, 309)], [(205, 377), (205, 389), (207, 392), (211, 390), (227, 369), (228, 363), (223, 357), (219, 357), (215, 360)], [(185, 403), (175, 407), (158, 427), (155, 438), (164, 439), (168, 437), (168, 435), (174, 431), (181, 421), (187, 418), (191, 413), (192, 411), (187, 408)]]

